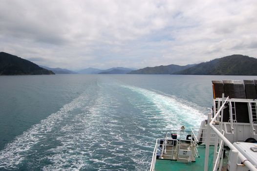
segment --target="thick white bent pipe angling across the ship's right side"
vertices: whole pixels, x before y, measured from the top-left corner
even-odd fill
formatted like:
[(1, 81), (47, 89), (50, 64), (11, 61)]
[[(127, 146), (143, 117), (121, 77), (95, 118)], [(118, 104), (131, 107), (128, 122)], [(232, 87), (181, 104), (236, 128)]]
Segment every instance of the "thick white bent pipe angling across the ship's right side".
[[(217, 113), (215, 114), (214, 118), (212, 119), (212, 121), (210, 122), (210, 127), (214, 130), (214, 132), (216, 134), (218, 134), (218, 136), (224, 141), (224, 143), (231, 149), (231, 150), (236, 150), (238, 151), (235, 146), (233, 146), (233, 144), (231, 144), (231, 142), (225, 137), (222, 135), (222, 133), (220, 131), (218, 131), (217, 128), (214, 127), (213, 123), (216, 119), (216, 117), (219, 115), (220, 111), (223, 109), (223, 107), (225, 106), (226, 104), (226, 101), (228, 100), (229, 97), (227, 97), (227, 99), (225, 100), (224, 104), (219, 108), (219, 110), (217, 111)], [(250, 169), (250, 171), (257, 171), (257, 168), (249, 161), (247, 160), (247, 158), (241, 153), (238, 151), (238, 157), (240, 158), (241, 161), (244, 162), (244, 165)]]

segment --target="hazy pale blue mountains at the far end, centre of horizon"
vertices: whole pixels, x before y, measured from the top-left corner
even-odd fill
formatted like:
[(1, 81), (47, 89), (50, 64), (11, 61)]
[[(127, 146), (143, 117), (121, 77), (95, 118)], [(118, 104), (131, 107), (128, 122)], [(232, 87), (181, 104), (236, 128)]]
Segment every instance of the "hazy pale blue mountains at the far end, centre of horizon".
[(109, 69), (86, 68), (78, 71), (80, 74), (127, 74), (135, 68), (113, 67)]

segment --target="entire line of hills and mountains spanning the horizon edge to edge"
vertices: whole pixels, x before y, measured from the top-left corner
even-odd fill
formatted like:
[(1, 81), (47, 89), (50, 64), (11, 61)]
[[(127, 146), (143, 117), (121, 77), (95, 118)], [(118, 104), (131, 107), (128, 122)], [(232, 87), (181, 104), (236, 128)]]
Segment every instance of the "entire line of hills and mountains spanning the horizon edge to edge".
[[(75, 74), (76, 72), (39, 66), (20, 57), (0, 52), (0, 75)], [(200, 64), (176, 64), (135, 68), (86, 68), (80, 74), (182, 74), (182, 75), (257, 75), (257, 59), (244, 55), (231, 55)]]

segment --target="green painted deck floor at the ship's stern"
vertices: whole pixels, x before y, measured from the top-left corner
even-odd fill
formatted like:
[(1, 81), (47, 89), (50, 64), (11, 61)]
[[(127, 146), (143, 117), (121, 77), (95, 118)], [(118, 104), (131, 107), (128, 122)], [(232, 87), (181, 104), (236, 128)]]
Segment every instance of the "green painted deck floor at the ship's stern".
[[(157, 159), (155, 163), (155, 171), (203, 171), (204, 170), (204, 158), (205, 158), (205, 146), (199, 145), (197, 148), (199, 157), (195, 159), (195, 162), (178, 162), (175, 160), (163, 160)], [(210, 146), (208, 171), (213, 169), (213, 153), (214, 146)]]

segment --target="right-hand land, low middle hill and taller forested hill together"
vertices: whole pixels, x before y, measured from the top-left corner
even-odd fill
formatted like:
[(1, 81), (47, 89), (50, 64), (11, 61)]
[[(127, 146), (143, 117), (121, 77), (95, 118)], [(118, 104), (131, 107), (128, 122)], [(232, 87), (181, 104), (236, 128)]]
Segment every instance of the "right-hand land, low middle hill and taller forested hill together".
[(257, 75), (257, 59), (244, 55), (230, 55), (200, 64), (146, 67), (131, 71), (129, 74)]

